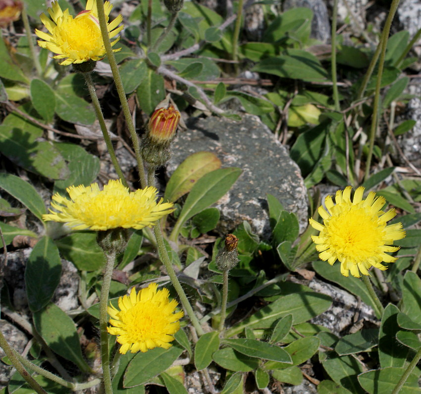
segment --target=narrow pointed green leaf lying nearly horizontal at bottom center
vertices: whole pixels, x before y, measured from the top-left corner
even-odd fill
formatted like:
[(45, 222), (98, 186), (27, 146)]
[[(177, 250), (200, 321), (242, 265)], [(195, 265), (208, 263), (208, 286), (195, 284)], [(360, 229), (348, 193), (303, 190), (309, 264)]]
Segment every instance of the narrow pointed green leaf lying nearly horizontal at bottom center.
[(290, 364), (290, 355), (282, 348), (256, 339), (224, 339), (224, 344), (246, 356)]

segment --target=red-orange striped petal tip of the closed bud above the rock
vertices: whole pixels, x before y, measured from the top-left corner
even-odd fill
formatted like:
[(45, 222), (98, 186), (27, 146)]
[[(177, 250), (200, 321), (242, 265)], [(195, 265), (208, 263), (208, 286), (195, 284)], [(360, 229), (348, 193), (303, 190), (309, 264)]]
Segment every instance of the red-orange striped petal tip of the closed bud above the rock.
[(157, 143), (171, 142), (180, 121), (180, 113), (170, 104), (168, 108), (159, 108), (149, 120), (149, 136)]

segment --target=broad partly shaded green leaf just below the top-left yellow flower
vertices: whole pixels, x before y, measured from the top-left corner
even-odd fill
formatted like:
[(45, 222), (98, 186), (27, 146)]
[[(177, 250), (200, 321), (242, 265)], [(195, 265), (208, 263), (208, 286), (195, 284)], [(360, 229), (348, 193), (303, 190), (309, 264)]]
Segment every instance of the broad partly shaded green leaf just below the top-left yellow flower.
[(81, 94), (89, 94), (88, 90), (82, 89), (78, 74), (64, 77), (54, 90), (55, 112), (67, 122), (90, 125), (95, 122), (95, 111), (92, 104), (79, 97)]

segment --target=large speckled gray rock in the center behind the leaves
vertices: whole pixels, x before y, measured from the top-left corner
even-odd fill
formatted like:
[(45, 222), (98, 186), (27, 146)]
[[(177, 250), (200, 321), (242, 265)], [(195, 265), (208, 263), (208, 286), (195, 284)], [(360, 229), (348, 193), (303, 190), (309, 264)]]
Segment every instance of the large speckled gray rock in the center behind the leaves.
[(307, 190), (300, 169), (257, 116), (245, 114), (239, 122), (214, 116), (193, 118), (187, 126), (187, 131), (179, 131), (173, 142), (169, 173), (187, 156), (199, 151), (215, 153), (223, 168), (243, 170), (217, 203), (222, 233), (246, 220), (258, 234), (267, 236), (268, 193), (277, 197), (284, 209), (297, 214), (301, 231), (307, 227)]

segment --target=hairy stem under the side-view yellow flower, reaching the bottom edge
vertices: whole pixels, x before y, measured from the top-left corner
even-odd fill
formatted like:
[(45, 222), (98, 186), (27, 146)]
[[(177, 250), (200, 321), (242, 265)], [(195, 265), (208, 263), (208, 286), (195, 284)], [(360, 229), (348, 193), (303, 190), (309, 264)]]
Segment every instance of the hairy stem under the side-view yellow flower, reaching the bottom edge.
[(115, 252), (105, 253), (106, 265), (103, 279), (103, 286), (101, 288), (100, 298), (100, 330), (101, 330), (101, 359), (103, 363), (103, 376), (105, 394), (112, 394), (111, 388), (111, 371), (109, 368), (109, 349), (108, 349), (108, 332), (107, 328), (107, 306), (109, 286), (111, 284), (112, 270), (115, 264)]

